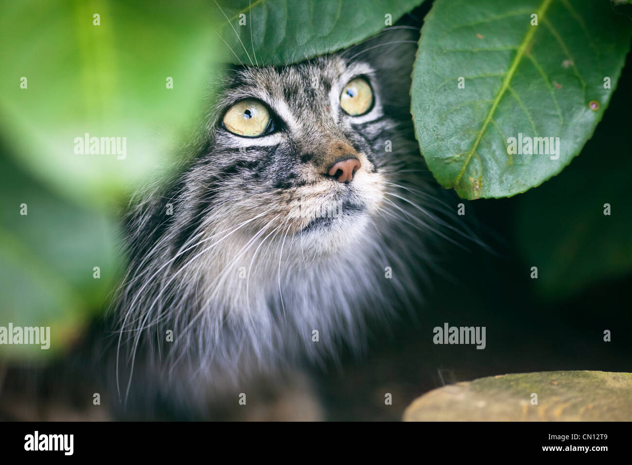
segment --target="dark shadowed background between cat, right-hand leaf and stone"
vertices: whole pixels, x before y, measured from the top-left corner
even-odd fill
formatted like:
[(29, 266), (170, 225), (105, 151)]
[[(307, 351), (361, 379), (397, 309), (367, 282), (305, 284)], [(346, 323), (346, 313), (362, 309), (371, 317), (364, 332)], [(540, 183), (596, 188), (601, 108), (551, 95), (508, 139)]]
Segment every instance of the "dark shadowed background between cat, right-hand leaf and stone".
[[(419, 24), (429, 8), (408, 23)], [(454, 280), (434, 273), (416, 318), (403, 311), (388, 333), (374, 328), (366, 357), (347, 353), (341, 366), (315, 370), (327, 419), (399, 420), (428, 390), (483, 376), (632, 371), (631, 89), (628, 56), (592, 139), (557, 177), (507, 199), (454, 197), (455, 211), (466, 204), (468, 221), (495, 252), (444, 241), (441, 267)], [(487, 347), (433, 344), (432, 328), (445, 322), (486, 326)]]

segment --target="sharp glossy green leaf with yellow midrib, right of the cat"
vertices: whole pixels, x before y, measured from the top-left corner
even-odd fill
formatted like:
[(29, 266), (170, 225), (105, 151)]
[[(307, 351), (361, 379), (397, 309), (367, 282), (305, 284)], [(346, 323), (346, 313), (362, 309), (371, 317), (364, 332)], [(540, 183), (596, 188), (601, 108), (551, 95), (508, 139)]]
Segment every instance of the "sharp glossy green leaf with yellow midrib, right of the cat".
[[(416, 136), (434, 177), (477, 199), (525, 192), (559, 173), (601, 119), (631, 33), (632, 22), (605, 1), (437, 0), (411, 90)], [(559, 158), (550, 148), (509, 154), (508, 139), (519, 134), (559, 137)]]

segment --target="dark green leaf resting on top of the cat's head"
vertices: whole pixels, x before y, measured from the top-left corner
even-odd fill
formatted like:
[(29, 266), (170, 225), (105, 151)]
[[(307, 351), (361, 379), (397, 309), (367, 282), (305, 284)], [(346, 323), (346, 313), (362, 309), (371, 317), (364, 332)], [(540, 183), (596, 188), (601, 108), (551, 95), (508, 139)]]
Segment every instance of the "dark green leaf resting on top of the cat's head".
[(229, 59), (243, 65), (286, 65), (358, 44), (421, 3), (423, 0), (216, 2), (217, 14), (224, 19), (220, 35)]

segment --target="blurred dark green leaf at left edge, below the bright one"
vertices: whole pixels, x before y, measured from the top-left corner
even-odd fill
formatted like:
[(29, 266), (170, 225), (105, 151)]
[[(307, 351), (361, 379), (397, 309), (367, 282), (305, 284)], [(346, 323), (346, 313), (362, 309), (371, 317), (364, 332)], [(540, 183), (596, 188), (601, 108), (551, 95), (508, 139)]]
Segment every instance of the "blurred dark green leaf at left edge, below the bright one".
[(44, 189), (6, 157), (0, 158), (0, 197), (0, 326), (51, 327), (48, 350), (3, 344), (0, 357), (58, 354), (100, 310), (118, 278), (118, 226)]

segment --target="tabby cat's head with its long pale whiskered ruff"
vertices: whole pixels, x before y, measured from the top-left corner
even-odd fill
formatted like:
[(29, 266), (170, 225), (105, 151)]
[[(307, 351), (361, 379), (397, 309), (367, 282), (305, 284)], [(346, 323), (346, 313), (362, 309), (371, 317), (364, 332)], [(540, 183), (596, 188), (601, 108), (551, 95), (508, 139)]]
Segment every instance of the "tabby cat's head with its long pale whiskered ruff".
[[(410, 115), (417, 35), (391, 29), (303, 63), (229, 71), (204, 148), (131, 211), (121, 335), (138, 344), (147, 328), (154, 340), (173, 329), (173, 353), (230, 367), (244, 340), (255, 359), (321, 350), (304, 337), (313, 328), (360, 340), (362, 307), (387, 311), (416, 287), (435, 203)], [(277, 325), (294, 329), (281, 338)]]

